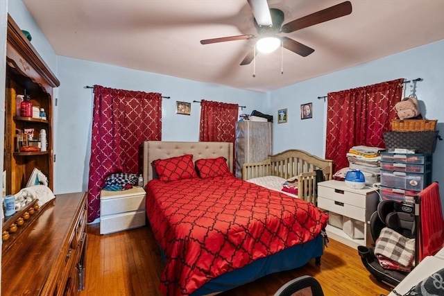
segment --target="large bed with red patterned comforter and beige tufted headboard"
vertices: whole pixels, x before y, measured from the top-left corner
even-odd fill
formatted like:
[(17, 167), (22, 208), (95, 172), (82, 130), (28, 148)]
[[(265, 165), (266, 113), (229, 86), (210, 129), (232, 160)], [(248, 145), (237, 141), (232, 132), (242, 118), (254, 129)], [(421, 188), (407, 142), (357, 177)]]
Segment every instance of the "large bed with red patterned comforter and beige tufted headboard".
[[(327, 215), (311, 202), (234, 177), (232, 153), (232, 143), (143, 143), (146, 216), (165, 262), (164, 295), (214, 295), (323, 253)], [(190, 154), (200, 175), (164, 182), (171, 159)], [(223, 169), (214, 171), (223, 175), (204, 174), (221, 159)]]

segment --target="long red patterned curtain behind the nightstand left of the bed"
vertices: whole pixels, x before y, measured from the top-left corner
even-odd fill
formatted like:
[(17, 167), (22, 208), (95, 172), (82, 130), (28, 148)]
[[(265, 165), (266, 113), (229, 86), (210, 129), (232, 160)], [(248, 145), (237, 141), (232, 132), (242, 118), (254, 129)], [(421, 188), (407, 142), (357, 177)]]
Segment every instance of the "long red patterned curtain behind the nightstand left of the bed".
[(112, 173), (139, 173), (138, 148), (162, 139), (162, 96), (94, 85), (88, 222), (99, 218), (100, 191)]

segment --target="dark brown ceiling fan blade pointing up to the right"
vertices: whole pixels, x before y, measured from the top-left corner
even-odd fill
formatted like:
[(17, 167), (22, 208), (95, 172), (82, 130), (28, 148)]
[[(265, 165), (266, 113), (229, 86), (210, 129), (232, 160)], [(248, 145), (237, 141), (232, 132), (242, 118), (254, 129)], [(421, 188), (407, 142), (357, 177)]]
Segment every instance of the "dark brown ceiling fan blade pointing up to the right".
[(323, 10), (319, 10), (318, 12), (314, 12), (311, 15), (290, 21), (282, 26), (282, 32), (291, 33), (302, 28), (321, 24), (324, 21), (330, 21), (332, 19), (337, 19), (338, 17), (350, 15), (350, 13), (352, 13), (352, 3), (350, 3), (350, 1), (345, 1), (330, 8), (325, 8)]

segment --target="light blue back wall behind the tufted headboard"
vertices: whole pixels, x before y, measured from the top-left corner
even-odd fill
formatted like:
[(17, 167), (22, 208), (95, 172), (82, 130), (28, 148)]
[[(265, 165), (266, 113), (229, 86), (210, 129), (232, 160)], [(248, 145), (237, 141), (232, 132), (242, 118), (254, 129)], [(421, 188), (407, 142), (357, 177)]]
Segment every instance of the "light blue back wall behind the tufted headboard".
[[(160, 92), (162, 140), (198, 141), (201, 101), (221, 101), (246, 106), (242, 112), (262, 109), (262, 94), (209, 85), (155, 73), (135, 71), (106, 64), (58, 57), (60, 92), (58, 103), (58, 150), (54, 191), (85, 191), (89, 173), (92, 126), (92, 89), (103, 85), (117, 89)], [(191, 115), (176, 114), (176, 101), (191, 103)]]

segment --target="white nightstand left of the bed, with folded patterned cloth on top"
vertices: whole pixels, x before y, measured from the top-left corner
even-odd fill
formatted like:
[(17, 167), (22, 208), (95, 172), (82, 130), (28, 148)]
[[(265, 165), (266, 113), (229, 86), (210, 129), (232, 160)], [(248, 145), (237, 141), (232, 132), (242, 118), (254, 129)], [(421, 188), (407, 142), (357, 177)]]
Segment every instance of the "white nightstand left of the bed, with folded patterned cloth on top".
[(142, 227), (146, 221), (145, 190), (133, 187), (123, 191), (102, 190), (100, 195), (100, 234)]

